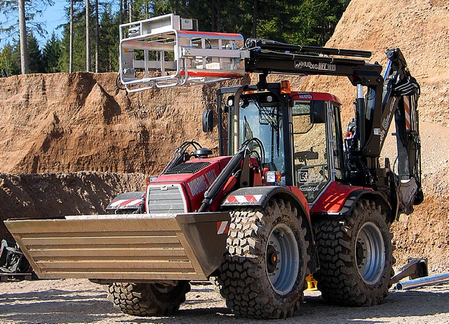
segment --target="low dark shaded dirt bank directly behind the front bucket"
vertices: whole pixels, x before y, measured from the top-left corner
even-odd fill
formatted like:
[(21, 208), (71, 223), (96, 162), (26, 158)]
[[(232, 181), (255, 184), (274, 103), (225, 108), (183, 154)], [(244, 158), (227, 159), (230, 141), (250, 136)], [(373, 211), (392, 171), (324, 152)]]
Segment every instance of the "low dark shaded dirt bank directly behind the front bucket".
[(0, 173), (0, 238), (12, 239), (8, 218), (102, 214), (114, 196), (142, 190), (145, 175), (138, 173)]

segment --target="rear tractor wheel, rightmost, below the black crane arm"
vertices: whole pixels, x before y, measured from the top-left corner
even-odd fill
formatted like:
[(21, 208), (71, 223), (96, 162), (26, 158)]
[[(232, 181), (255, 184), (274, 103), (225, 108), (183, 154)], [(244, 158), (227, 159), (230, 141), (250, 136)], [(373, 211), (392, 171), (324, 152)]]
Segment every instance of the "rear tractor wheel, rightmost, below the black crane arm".
[(394, 258), (387, 212), (379, 203), (360, 199), (342, 219), (315, 226), (320, 269), (314, 274), (328, 302), (370, 306), (388, 295)]

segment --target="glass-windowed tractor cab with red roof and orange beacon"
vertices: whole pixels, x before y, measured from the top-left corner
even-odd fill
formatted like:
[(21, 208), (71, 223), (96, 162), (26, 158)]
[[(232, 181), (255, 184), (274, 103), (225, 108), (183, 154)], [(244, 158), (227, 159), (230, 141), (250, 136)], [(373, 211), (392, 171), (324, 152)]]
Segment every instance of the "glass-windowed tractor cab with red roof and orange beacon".
[(220, 154), (234, 155), (257, 138), (262, 145), (250, 142), (250, 150), (268, 170), (265, 184), (298, 187), (313, 204), (343, 177), (340, 101), (329, 93), (290, 91), (285, 81), (267, 83), (268, 90), (246, 87), (219, 90)]

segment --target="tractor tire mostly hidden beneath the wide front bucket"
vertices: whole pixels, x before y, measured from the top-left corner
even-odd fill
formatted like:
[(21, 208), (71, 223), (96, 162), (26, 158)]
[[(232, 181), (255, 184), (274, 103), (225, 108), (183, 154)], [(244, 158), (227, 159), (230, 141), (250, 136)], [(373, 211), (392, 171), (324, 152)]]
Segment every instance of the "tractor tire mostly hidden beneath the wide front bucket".
[(109, 285), (107, 299), (129, 315), (161, 316), (177, 311), (189, 291), (189, 281), (179, 281), (177, 285), (113, 283)]

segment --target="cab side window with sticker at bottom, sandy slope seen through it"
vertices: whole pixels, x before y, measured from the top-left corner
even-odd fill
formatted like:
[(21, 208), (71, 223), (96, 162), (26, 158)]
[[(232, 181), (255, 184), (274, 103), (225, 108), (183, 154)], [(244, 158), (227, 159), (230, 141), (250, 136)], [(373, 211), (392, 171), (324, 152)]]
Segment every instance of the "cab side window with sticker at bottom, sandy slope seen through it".
[[(295, 184), (309, 203), (330, 180), (325, 119), (311, 118), (311, 104), (326, 111), (325, 102), (295, 102), (292, 109)], [(316, 107), (314, 107), (315, 109)]]

